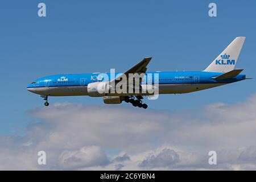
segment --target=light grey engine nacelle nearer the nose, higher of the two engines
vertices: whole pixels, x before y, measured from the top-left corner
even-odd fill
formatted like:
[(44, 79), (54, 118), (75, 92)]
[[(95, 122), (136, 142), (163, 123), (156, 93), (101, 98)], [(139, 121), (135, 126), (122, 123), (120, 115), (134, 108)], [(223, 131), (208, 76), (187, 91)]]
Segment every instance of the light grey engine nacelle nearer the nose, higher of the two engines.
[(108, 82), (93, 82), (87, 85), (88, 96), (102, 97), (109, 93)]

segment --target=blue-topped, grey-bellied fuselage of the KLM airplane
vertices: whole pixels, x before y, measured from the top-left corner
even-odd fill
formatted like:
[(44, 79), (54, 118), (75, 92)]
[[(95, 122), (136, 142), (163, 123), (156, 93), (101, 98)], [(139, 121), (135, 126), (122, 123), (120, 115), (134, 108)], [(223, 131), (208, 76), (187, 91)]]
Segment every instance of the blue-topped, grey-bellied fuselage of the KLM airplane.
[[(33, 81), (27, 86), (27, 90), (43, 96), (86, 96), (88, 95), (86, 90), (88, 84), (104, 81), (99, 79), (99, 74), (47, 76)], [(141, 84), (148, 84), (148, 75), (152, 76), (150, 81), (152, 84), (155, 84), (155, 74), (158, 74), (159, 94), (195, 92), (245, 80), (246, 78), (245, 75), (240, 74), (233, 78), (216, 80), (214, 77), (223, 74), (216, 72), (146, 72), (146, 76), (144, 76)], [(106, 73), (106, 75), (110, 78), (110, 73)]]

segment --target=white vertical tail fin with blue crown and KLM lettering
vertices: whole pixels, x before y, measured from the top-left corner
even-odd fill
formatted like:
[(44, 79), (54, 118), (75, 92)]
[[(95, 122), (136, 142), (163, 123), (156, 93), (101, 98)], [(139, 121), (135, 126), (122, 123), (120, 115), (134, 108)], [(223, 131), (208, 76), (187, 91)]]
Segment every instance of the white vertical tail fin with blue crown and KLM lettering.
[(238, 56), (245, 42), (245, 36), (238, 36), (224, 51), (204, 70), (204, 72), (230, 72), (234, 69)]

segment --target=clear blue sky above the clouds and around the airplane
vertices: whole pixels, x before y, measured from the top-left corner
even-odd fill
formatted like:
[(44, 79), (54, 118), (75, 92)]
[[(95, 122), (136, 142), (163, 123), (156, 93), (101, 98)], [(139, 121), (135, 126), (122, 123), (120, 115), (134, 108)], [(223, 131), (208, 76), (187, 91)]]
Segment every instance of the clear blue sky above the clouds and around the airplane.
[[(39, 2), (46, 3), (46, 18), (37, 15)], [(123, 72), (146, 56), (153, 57), (148, 71), (201, 71), (236, 36), (246, 36), (236, 68), (256, 78), (256, 2), (214, 1), (214, 18), (210, 2), (1, 1), (0, 134), (18, 135), (33, 122), (27, 111), (43, 100), (26, 86), (47, 75)], [(234, 104), (253, 93), (255, 81), (246, 80), (146, 102), (151, 109), (182, 111)], [(51, 104), (65, 101), (102, 104), (101, 98), (49, 98)]]

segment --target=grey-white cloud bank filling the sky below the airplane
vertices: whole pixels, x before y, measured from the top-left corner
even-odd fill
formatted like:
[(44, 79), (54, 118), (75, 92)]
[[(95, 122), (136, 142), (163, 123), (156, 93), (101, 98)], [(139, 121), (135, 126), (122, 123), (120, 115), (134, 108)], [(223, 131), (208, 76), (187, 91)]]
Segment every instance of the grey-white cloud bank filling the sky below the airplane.
[[(28, 111), (22, 137), (0, 136), (0, 169), (256, 169), (256, 95), (204, 109), (67, 103)], [(38, 165), (38, 151), (47, 164)], [(217, 165), (208, 152), (217, 152)]]

